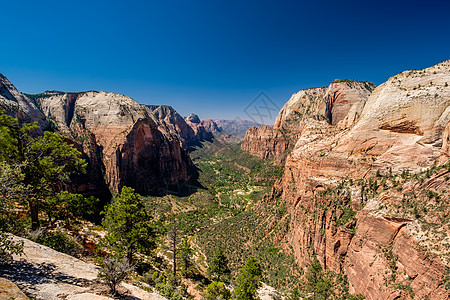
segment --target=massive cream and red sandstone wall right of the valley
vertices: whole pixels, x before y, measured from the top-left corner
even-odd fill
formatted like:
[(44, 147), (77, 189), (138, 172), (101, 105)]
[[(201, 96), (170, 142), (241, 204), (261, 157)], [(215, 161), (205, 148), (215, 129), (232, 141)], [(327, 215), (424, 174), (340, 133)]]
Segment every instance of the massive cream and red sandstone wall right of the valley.
[[(436, 226), (444, 234), (441, 239), (431, 238), (426, 222), (396, 217), (386, 208), (401, 209), (411, 193), (449, 191), (446, 168), (420, 182), (405, 180), (385, 192), (379, 188), (368, 201), (361, 189), (350, 188), (339, 201), (357, 215), (345, 226), (336, 225), (344, 213), (333, 209), (339, 207), (336, 200), (323, 197), (323, 191), (336, 189), (343, 180), (368, 179), (377, 171), (417, 173), (446, 163), (449, 83), (450, 60), (402, 72), (378, 87), (335, 80), (294, 94), (273, 127), (247, 131), (241, 149), (284, 165), (270, 197), (288, 205), (285, 248), (293, 249), (298, 265), (306, 268), (314, 254), (322, 266), (346, 274), (350, 291), (367, 299), (449, 299), (444, 286), (450, 270), (448, 197), (447, 221)], [(425, 207), (437, 205), (431, 196), (424, 199)], [(420, 213), (429, 224), (438, 222)]]

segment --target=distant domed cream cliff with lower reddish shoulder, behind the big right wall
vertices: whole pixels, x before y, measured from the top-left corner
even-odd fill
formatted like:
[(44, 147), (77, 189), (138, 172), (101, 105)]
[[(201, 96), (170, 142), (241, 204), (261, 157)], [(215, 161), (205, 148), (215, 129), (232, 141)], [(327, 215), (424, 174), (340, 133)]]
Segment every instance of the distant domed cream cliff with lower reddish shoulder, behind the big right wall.
[(241, 149), (260, 158), (284, 158), (311, 123), (323, 123), (319, 128), (326, 123), (352, 126), (374, 88), (369, 82), (336, 80), (328, 87), (302, 90), (283, 106), (273, 127), (249, 129)]

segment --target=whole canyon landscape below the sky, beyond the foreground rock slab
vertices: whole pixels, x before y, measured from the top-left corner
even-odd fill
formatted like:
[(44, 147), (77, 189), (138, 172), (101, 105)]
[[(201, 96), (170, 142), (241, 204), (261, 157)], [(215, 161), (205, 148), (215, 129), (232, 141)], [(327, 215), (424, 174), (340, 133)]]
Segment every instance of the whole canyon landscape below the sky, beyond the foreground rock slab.
[(92, 274), (122, 259), (125, 285), (168, 299), (449, 297), (448, 60), (299, 91), (274, 126), (0, 79), (3, 245), (22, 236)]

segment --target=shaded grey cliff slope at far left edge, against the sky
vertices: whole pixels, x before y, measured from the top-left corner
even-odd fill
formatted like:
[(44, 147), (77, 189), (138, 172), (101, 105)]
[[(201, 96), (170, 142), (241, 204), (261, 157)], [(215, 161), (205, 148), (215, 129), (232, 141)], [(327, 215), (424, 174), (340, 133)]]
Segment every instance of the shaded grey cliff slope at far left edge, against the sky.
[(2, 74), (0, 74), (0, 109), (21, 123), (37, 122), (40, 128), (48, 126), (45, 116), (36, 105)]

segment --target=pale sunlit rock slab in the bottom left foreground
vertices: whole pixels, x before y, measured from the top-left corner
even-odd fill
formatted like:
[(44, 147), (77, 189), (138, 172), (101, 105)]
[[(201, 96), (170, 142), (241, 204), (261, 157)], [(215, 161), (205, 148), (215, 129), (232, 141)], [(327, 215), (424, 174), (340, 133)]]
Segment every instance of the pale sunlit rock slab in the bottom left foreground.
[[(16, 284), (28, 297), (42, 300), (112, 299), (105, 296), (107, 288), (97, 279), (96, 265), (24, 238), (14, 237), (14, 240), (24, 242), (24, 253), (15, 256), (11, 264), (0, 270), (0, 276)], [(122, 284), (119, 291), (124, 299), (165, 299), (127, 283)]]

